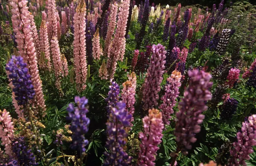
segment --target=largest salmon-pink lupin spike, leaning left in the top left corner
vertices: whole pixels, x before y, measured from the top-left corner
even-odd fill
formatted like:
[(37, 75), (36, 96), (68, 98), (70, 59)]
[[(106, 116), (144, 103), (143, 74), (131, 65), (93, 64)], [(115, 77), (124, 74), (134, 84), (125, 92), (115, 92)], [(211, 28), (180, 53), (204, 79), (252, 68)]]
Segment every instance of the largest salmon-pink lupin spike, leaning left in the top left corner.
[[(42, 90), (42, 82), (39, 76), (37, 66), (37, 55), (35, 52), (34, 39), (32, 37), (32, 31), (30, 29), (30, 19), (26, 0), (12, 0), (10, 1), (12, 6), (12, 27), (16, 34), (16, 42), (18, 53), (23, 57), (24, 62), (27, 63), (27, 68), (31, 75), (31, 81), (35, 89), (35, 97), (33, 103), (37, 110), (46, 111), (46, 105), (44, 104), (44, 94)], [(21, 12), (21, 13), (20, 13)], [(21, 23), (23, 22), (23, 23)], [(35, 112), (37, 114), (38, 112)]]

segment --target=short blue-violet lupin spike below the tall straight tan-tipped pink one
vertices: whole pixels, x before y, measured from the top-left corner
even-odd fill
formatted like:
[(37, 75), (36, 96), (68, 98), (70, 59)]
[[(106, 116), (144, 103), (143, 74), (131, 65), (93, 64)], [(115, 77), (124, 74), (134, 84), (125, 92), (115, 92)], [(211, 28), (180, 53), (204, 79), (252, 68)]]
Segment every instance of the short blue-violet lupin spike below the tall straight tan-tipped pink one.
[(90, 119), (86, 116), (89, 112), (87, 109), (88, 99), (76, 96), (75, 103), (77, 104), (77, 107), (75, 107), (73, 103), (70, 103), (67, 108), (67, 111), (69, 112), (67, 119), (71, 120), (69, 129), (73, 132), (73, 144), (71, 145), (71, 148), (85, 153), (85, 146), (88, 144), (88, 140), (85, 139), (84, 135), (88, 132), (90, 124)]

